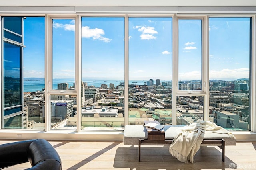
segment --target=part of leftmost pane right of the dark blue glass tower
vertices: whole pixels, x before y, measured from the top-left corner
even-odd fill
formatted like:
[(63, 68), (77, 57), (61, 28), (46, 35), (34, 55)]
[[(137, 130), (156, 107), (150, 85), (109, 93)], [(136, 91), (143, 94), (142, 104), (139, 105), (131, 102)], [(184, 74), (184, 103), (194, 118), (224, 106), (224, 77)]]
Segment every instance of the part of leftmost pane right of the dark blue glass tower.
[[(29, 129), (44, 129), (44, 17), (24, 19), (24, 111)], [(30, 123), (33, 123), (30, 125)], [(29, 126), (30, 125), (30, 126)]]

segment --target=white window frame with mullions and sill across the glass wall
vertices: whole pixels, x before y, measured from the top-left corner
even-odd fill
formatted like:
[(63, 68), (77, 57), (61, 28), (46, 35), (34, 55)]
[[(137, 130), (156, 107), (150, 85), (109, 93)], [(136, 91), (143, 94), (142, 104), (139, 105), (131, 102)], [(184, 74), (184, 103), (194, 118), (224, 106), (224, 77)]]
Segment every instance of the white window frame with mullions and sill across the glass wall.
[[(250, 114), (251, 114), (251, 131), (242, 131), (242, 132), (234, 132), (238, 140), (251, 140), (251, 139), (256, 139), (256, 10), (252, 11), (252, 8), (244, 7), (242, 10), (241, 14), (241, 9), (235, 8), (235, 7), (230, 7), (230, 8), (225, 8), (226, 11), (225, 13), (222, 12), (222, 8), (204, 8), (204, 7), (184, 7), (184, 8), (176, 8), (176, 7), (167, 7), (167, 8), (143, 8), (142, 11), (139, 11), (132, 8), (132, 7), (106, 7), (106, 11), (104, 11), (105, 8), (102, 9), (102, 7), (94, 7), (90, 11), (90, 15), (86, 14), (86, 9), (88, 10), (88, 7), (76, 7), (73, 14), (70, 14), (70, 10), (72, 11), (73, 8), (63, 8), (62, 7), (55, 7), (51, 9), (52, 12), (57, 13), (52, 15), (52, 13), (49, 13), (49, 11), (45, 11), (43, 7), (36, 7), (36, 12), (31, 11), (32, 8), (26, 8), (26, 7), (12, 7), (6, 9), (6, 13), (2, 14), (1, 16), (45, 16), (45, 27), (46, 27), (46, 34), (45, 34), (45, 83), (46, 87), (48, 87), (48, 82), (51, 81), (51, 76), (49, 72), (49, 69), (51, 69), (51, 45), (50, 45), (50, 39), (51, 39), (51, 26), (50, 26), (50, 21), (51, 17), (60, 17), (60, 18), (75, 18), (76, 19), (76, 31), (75, 31), (75, 82), (81, 82), (81, 41), (80, 41), (80, 35), (81, 35), (81, 16), (115, 16), (113, 13), (118, 14), (120, 16), (125, 17), (125, 94), (128, 94), (128, 17), (130, 16), (173, 16), (173, 56), (172, 56), (172, 87), (173, 87), (173, 96), (179, 96), (179, 95), (200, 95), (200, 96), (205, 96), (204, 99), (204, 119), (207, 120), (208, 118), (208, 99), (209, 99), (209, 90), (208, 90), (208, 81), (209, 81), (209, 60), (208, 60), (208, 20), (209, 16), (246, 16), (246, 17), (252, 17), (252, 51), (251, 51), (251, 70), (250, 70), (250, 75), (251, 75), (251, 89), (250, 89), (250, 98), (251, 98), (251, 103), (250, 103)], [(34, 9), (34, 8), (33, 8)], [(169, 10), (167, 10), (169, 9)], [(205, 9), (205, 10), (203, 10)], [(68, 11), (64, 11), (68, 10)], [(18, 11), (18, 13), (17, 13)], [(120, 13), (120, 11), (122, 11)], [(204, 12), (203, 12), (204, 11)], [(205, 12), (206, 11), (206, 12)], [(134, 13), (136, 12), (136, 13)], [(212, 14), (207, 14), (207, 12), (212, 13)], [(229, 12), (229, 13), (228, 13)], [(46, 13), (46, 14), (44, 14)], [(85, 13), (85, 14), (82, 14)], [(150, 13), (150, 14), (148, 14)], [(200, 15), (198, 15), (200, 13)], [(204, 22), (202, 22), (202, 82), (204, 85), (204, 90), (198, 91), (198, 92), (193, 92), (193, 94), (190, 94), (188, 92), (180, 92), (177, 90), (177, 84), (176, 82), (178, 81), (178, 43), (177, 37), (178, 37), (178, 20), (177, 18), (182, 18), (182, 17), (189, 17), (189, 18), (203, 18)], [(2, 36), (2, 33), (1, 33)], [(2, 68), (1, 68), (2, 70)], [(2, 80), (0, 80), (2, 81)], [(51, 83), (50, 83), (51, 84)], [(77, 98), (80, 98), (80, 83), (79, 86), (76, 85), (76, 90), (67, 92), (67, 94), (76, 94)], [(46, 104), (46, 110), (50, 110), (50, 95), (51, 94), (60, 94), (59, 91), (54, 91), (54, 90), (49, 90), (50, 88), (46, 88), (46, 98), (45, 100), (48, 101), (48, 104)], [(2, 93), (2, 92), (0, 92)], [(63, 94), (63, 93), (61, 93)], [(66, 94), (66, 93), (65, 93)], [(2, 96), (2, 94), (1, 94)], [(125, 113), (128, 113), (128, 95), (125, 95)], [(173, 100), (173, 123), (175, 125), (176, 123), (176, 100)], [(47, 106), (48, 105), (48, 106)], [(80, 100), (78, 100), (78, 106), (80, 106)], [(2, 110), (2, 106), (0, 106), (0, 109)], [(0, 138), (4, 139), (20, 139), (17, 135), (17, 133), (22, 134), (24, 138), (30, 139), (30, 138), (46, 138), (46, 139), (81, 139), (81, 140), (88, 140), (88, 139), (94, 139), (94, 140), (102, 140), (102, 139), (115, 139), (115, 140), (122, 140), (122, 132), (117, 131), (117, 132), (100, 132), (100, 131), (80, 131), (80, 113), (81, 108), (78, 107), (78, 125), (77, 125), (77, 131), (76, 132), (70, 132), (70, 131), (53, 131), (50, 130), (49, 123), (50, 123), (50, 117), (46, 117), (46, 124), (45, 124), (45, 129), (44, 131), (41, 130), (17, 130), (17, 129), (0, 129)], [(50, 114), (46, 114), (50, 115)], [(128, 114), (126, 114), (125, 117), (125, 124), (128, 124)], [(1, 126), (1, 121), (0, 121), (0, 126)], [(101, 136), (102, 135), (102, 136)], [(106, 138), (105, 138), (106, 137)], [(22, 137), (23, 139), (23, 137)]]

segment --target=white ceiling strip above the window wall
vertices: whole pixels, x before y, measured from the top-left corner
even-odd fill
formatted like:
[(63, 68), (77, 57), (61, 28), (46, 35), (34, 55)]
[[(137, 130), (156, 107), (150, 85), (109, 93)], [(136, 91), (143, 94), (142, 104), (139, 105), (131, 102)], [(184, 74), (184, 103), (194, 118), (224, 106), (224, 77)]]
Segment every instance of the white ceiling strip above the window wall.
[(0, 0), (0, 6), (256, 6), (256, 0)]

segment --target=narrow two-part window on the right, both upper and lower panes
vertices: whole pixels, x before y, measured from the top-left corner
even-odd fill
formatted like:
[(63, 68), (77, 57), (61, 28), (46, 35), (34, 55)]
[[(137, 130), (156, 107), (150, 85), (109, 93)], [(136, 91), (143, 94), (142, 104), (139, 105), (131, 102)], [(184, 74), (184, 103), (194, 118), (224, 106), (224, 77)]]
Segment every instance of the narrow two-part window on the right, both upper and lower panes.
[(202, 88), (202, 18), (178, 18), (177, 125), (204, 120)]

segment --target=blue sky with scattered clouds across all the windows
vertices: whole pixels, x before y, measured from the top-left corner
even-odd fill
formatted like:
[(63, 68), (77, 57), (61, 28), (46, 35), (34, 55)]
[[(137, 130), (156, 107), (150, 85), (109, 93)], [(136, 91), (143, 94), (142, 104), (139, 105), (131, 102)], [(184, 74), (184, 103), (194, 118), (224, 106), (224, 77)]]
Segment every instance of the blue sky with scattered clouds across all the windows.
[[(210, 18), (210, 79), (249, 76), (249, 18)], [(179, 21), (179, 80), (201, 79), (201, 21)], [(53, 77), (74, 78), (74, 20), (53, 22)], [(24, 77), (44, 78), (44, 18), (24, 20)], [(124, 80), (124, 18), (82, 18), (82, 78)], [(172, 18), (129, 18), (129, 79), (172, 79)]]

